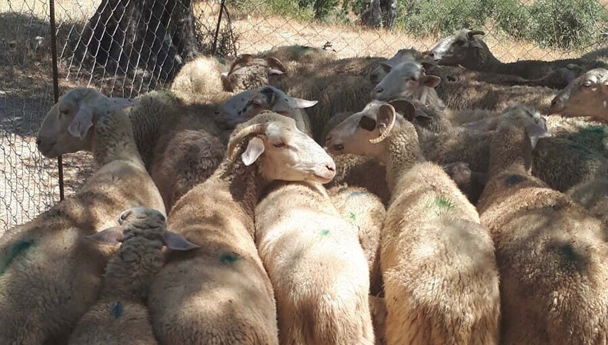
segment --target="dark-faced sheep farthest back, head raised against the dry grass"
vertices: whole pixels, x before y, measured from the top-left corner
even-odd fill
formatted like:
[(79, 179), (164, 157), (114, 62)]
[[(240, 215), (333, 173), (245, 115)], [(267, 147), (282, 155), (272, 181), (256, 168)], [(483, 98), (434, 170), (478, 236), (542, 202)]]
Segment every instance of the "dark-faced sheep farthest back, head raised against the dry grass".
[(597, 67), (606, 68), (604, 61), (582, 59), (555, 61), (520, 60), (513, 63), (503, 63), (490, 52), (485, 42), (477, 37), (483, 35), (485, 33), (480, 30), (458, 30), (451, 36), (441, 39), (430, 50), (429, 56), (440, 64), (460, 64), (472, 70), (518, 75), (526, 79), (544, 78), (548, 74), (553, 73), (554, 70), (565, 67), (568, 64), (577, 64), (582, 70)]

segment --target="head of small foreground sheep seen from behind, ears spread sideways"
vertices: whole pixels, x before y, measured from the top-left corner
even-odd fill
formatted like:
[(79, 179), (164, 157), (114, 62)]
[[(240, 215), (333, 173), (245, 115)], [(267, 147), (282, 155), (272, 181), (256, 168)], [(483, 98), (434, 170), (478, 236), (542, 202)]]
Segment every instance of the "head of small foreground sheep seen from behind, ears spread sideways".
[(160, 211), (148, 207), (134, 207), (120, 213), (118, 227), (107, 228), (85, 236), (98, 244), (117, 245), (133, 238), (145, 238), (157, 242), (160, 247), (171, 250), (192, 250), (199, 248), (179, 234), (167, 230), (167, 220)]

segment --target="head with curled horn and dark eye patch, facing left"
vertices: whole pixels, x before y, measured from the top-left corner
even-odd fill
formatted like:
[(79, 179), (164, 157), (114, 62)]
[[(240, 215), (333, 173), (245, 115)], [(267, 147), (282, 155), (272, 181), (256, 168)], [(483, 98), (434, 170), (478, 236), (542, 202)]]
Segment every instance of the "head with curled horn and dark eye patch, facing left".
[(325, 147), (331, 154), (365, 155), (384, 162), (388, 145), (384, 139), (414, 117), (416, 109), (405, 99), (370, 103), (332, 129)]

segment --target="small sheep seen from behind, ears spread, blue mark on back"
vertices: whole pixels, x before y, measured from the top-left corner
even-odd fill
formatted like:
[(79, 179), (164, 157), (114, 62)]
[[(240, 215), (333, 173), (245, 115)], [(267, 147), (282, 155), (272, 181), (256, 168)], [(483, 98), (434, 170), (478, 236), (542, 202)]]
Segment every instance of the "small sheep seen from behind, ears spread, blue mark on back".
[(86, 236), (120, 249), (109, 259), (100, 298), (80, 318), (68, 345), (158, 344), (146, 307), (148, 289), (162, 267), (162, 247), (193, 250), (197, 245), (168, 231), (165, 216), (152, 208), (123, 211), (119, 227)]

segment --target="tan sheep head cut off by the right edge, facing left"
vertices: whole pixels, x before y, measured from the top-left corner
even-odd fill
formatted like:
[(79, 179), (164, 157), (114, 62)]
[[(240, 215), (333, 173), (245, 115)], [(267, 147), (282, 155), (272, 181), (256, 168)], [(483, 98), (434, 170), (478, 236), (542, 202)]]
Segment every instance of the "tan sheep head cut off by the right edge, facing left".
[(550, 114), (556, 113), (608, 122), (608, 70), (589, 70), (568, 84), (551, 101)]

